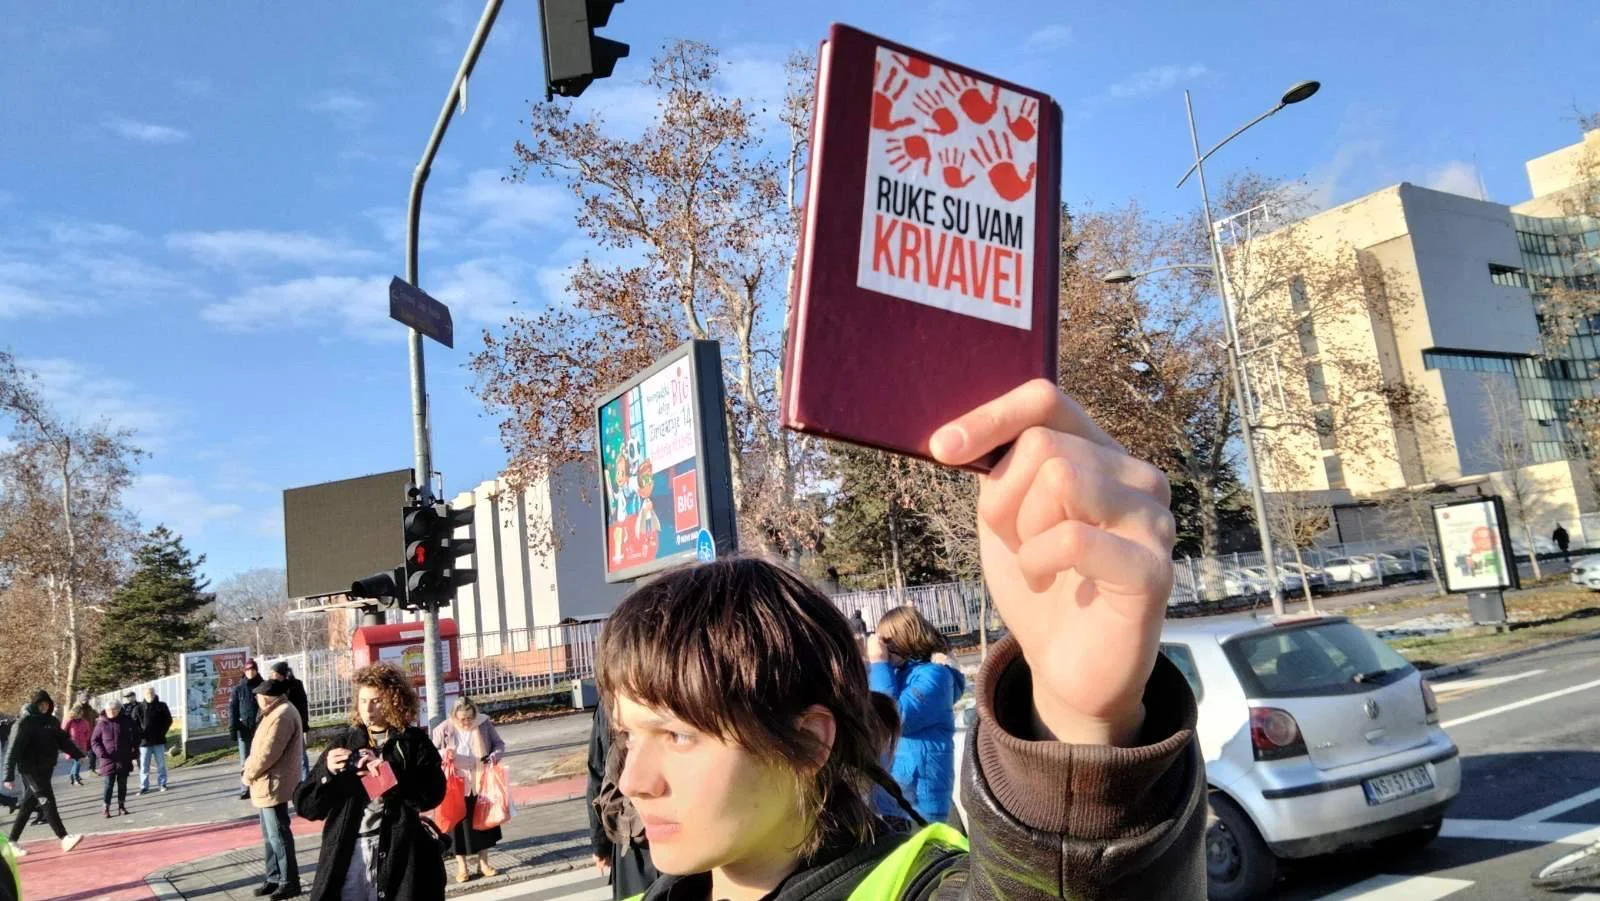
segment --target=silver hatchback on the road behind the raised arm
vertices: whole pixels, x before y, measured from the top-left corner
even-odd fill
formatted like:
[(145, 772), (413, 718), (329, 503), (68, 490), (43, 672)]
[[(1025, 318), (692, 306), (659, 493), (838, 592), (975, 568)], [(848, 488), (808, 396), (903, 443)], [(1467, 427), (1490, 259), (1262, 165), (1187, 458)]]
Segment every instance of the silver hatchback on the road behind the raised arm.
[(1282, 859), (1419, 850), (1461, 792), (1422, 675), (1342, 616), (1174, 619), (1162, 653), (1200, 703), (1213, 901), (1272, 893)]

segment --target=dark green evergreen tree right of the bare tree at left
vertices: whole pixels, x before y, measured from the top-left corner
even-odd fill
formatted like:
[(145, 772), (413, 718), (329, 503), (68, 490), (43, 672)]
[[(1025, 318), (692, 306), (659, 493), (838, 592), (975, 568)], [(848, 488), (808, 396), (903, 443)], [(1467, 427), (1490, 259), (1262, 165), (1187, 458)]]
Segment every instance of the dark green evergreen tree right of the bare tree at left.
[(85, 677), (91, 690), (166, 675), (176, 655), (208, 643), (216, 595), (200, 578), (205, 555), (192, 557), (181, 536), (155, 527), (133, 562), (133, 576), (106, 605), (99, 651)]

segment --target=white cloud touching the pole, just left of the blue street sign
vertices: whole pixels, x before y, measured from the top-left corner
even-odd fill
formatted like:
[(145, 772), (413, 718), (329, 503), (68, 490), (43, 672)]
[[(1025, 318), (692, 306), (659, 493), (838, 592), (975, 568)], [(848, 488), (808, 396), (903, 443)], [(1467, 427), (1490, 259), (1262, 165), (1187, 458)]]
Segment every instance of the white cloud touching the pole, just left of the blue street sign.
[[(389, 322), (389, 277), (314, 275), (256, 285), (210, 304), (200, 317), (230, 331), (302, 328), (334, 323), (342, 331), (379, 338)], [(392, 334), (398, 334), (398, 325)]]

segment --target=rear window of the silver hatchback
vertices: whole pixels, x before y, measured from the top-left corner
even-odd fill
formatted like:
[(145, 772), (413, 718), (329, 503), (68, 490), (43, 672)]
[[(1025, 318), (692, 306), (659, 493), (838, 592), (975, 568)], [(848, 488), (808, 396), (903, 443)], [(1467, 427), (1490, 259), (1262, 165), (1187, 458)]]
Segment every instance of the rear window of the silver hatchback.
[(1251, 698), (1358, 695), (1413, 672), (1394, 648), (1350, 623), (1251, 632), (1222, 648)]

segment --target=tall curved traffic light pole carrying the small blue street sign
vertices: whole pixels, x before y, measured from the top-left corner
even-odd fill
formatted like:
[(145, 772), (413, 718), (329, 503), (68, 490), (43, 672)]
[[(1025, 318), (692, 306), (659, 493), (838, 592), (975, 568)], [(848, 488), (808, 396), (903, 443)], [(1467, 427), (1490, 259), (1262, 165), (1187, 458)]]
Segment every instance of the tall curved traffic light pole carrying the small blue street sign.
[[(478, 53), (483, 51), (483, 42), (488, 40), (490, 29), (494, 27), (501, 2), (488, 0), (483, 5), (483, 16), (478, 19), (478, 27), (472, 32), (472, 42), (467, 45), (467, 54), (461, 59), (461, 69), (456, 70), (456, 78), (450, 83), (450, 94), (445, 96), (445, 107), (438, 112), (438, 122), (434, 123), (434, 133), (422, 150), (422, 160), (411, 173), (411, 197), (406, 203), (405, 229), (405, 280), (413, 288), (422, 286), (418, 283), (416, 274), (416, 232), (422, 218), (422, 189), (427, 186), (427, 176), (434, 170), (434, 157), (438, 154), (438, 144), (445, 139), (445, 130), (450, 128), (450, 118), (454, 115), (458, 106), (464, 106), (467, 78), (478, 61)], [(422, 365), (422, 333), (414, 328), (410, 336), (410, 350), (411, 445), (416, 451), (414, 477), (416, 487), (421, 488), (424, 503), (427, 503), (434, 499), (434, 453), (427, 434), (427, 373)], [(445, 719), (443, 671), (438, 659), (438, 608), (422, 611), (422, 672), (427, 688), (427, 725), (432, 728)]]

